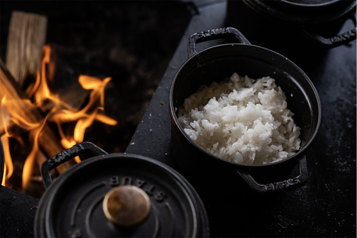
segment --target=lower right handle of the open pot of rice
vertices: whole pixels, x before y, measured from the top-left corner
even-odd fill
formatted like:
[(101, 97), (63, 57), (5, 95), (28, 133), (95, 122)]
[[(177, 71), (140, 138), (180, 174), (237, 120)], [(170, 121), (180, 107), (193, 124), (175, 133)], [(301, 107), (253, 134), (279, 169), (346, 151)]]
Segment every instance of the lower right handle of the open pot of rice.
[(300, 174), (295, 178), (278, 181), (275, 183), (259, 184), (247, 171), (238, 171), (238, 174), (245, 180), (245, 182), (256, 192), (270, 193), (273, 191), (287, 191), (295, 188), (300, 188), (307, 181), (307, 166), (306, 157), (303, 156), (297, 162), (300, 168)]

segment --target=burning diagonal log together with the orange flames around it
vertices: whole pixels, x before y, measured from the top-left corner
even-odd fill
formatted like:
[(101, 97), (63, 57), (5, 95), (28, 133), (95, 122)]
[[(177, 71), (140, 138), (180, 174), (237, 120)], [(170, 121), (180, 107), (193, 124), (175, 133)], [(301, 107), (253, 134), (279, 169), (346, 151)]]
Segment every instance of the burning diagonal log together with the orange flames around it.
[[(83, 89), (91, 90), (91, 92), (89, 94), (89, 102), (84, 108), (79, 110), (67, 104), (65, 101), (62, 101), (59, 95), (52, 93), (49, 89), (46, 80), (46, 66), (50, 64), (50, 55), (51, 48), (49, 45), (45, 45), (42, 50), (43, 58), (41, 66), (37, 71), (36, 81), (30, 84), (26, 93), (23, 93), (21, 89), (19, 89), (19, 86), (14, 79), (12, 79), (5, 65), (1, 62), (1, 111), (4, 111), (6, 108), (14, 124), (29, 130), (31, 141), (33, 142), (32, 150), (25, 160), (24, 169), (22, 171), (23, 188), (25, 188), (31, 180), (32, 167), (35, 158), (39, 157), (40, 147), (46, 152), (49, 158), (63, 149), (82, 142), (86, 128), (90, 127), (94, 120), (108, 125), (117, 124), (116, 120), (102, 113), (104, 110), (105, 87), (111, 78), (107, 77), (101, 80), (92, 76), (80, 75), (78, 79), (80, 85)], [(48, 103), (50, 106), (48, 106)], [(43, 113), (47, 113), (47, 115), (42, 117), (41, 115)], [(8, 131), (4, 115), (5, 113), (2, 113), (6, 136), (14, 137), (14, 135), (10, 135)], [(61, 137), (60, 141), (51, 131), (46, 123), (47, 121), (57, 125), (58, 133)], [(73, 134), (64, 133), (62, 130), (62, 124), (69, 122), (75, 123)], [(10, 153), (7, 156), (10, 156)], [(79, 157), (76, 157), (75, 161), (77, 163), (81, 162)], [(66, 162), (66, 164), (57, 167), (57, 171), (62, 173), (69, 166), (70, 164)]]

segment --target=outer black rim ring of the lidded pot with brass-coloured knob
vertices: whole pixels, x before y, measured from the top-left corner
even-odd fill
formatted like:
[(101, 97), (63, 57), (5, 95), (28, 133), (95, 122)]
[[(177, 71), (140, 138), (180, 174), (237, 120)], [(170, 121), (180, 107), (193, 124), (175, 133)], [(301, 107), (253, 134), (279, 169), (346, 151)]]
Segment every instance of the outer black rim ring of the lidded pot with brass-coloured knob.
[[(106, 154), (106, 155), (97, 155), (94, 157), (91, 157), (89, 159), (86, 159), (84, 161), (82, 161), (81, 163), (75, 164), (72, 167), (70, 167), (69, 169), (67, 169), (63, 174), (60, 175), (60, 179), (54, 181), (53, 184), (51, 184), (51, 186), (47, 189), (48, 191), (50, 191), (51, 193), (48, 194), (46, 196), (46, 192), (44, 197), (42, 197), (41, 199), (41, 204), (45, 205), (44, 208), (41, 209), (41, 213), (44, 213), (44, 218), (45, 220), (42, 221), (44, 223), (43, 228), (44, 230), (42, 231), (38, 231), (37, 230), (37, 234), (45, 234), (47, 235), (47, 237), (55, 237), (54, 234), (52, 234), (52, 226), (50, 224), (51, 221), (51, 217), (50, 214), (53, 213), (53, 209), (54, 209), (54, 205), (53, 202), (55, 200), (55, 197), (57, 195), (58, 189), (61, 187), (61, 185), (63, 183), (65, 183), (68, 179), (68, 177), (76, 172), (78, 172), (79, 170), (83, 169), (86, 166), (90, 166), (90, 164), (92, 163), (96, 163), (99, 161), (102, 161), (104, 159), (113, 159), (113, 158), (131, 158), (131, 159), (138, 159), (144, 162), (149, 162), (149, 163), (153, 163), (154, 166), (157, 166), (158, 169), (162, 169), (162, 171), (164, 173), (169, 174), (169, 176), (175, 180), (175, 182), (177, 183), (177, 185), (181, 188), (182, 192), (185, 194), (185, 197), (188, 200), (188, 203), (190, 204), (190, 209), (192, 210), (192, 223), (193, 223), (193, 228), (192, 228), (192, 232), (190, 232), (190, 236), (192, 237), (197, 237), (197, 235), (203, 230), (205, 229), (205, 227), (203, 227), (204, 224), (201, 224), (201, 221), (205, 220), (206, 223), (208, 223), (208, 217), (207, 217), (207, 212), (206, 210), (203, 210), (201, 212), (201, 208), (204, 206), (200, 206), (200, 203), (202, 203), (198, 193), (196, 192), (196, 190), (193, 189), (192, 186), (190, 186), (190, 183), (181, 176), (179, 176), (179, 173), (170, 168), (168, 165), (158, 161), (158, 160), (154, 160), (151, 159), (149, 157), (145, 157), (143, 155), (137, 155), (137, 154), (127, 154), (127, 153), (112, 153), (112, 154)], [(195, 193), (197, 194), (197, 196), (195, 196)], [(202, 220), (201, 217), (198, 217), (198, 214), (201, 214), (202, 216)], [(37, 219), (37, 215), (34, 221), (35, 224), (35, 229), (37, 228), (36, 223), (41, 222)]]

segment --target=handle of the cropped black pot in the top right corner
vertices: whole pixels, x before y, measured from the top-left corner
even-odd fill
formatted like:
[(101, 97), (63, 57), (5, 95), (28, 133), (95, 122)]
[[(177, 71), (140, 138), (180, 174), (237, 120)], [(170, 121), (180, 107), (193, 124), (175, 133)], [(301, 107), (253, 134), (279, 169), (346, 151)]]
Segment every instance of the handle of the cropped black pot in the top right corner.
[(305, 35), (307, 35), (309, 38), (314, 40), (316, 43), (326, 46), (327, 48), (333, 48), (336, 46), (347, 44), (348, 42), (356, 39), (356, 36), (357, 36), (356, 18), (353, 15), (350, 19), (355, 24), (355, 28), (353, 28), (349, 31), (346, 31), (345, 33), (342, 33), (340, 35), (332, 36), (331, 38), (324, 38), (319, 34), (310, 33), (307, 30), (302, 30), (302, 32)]

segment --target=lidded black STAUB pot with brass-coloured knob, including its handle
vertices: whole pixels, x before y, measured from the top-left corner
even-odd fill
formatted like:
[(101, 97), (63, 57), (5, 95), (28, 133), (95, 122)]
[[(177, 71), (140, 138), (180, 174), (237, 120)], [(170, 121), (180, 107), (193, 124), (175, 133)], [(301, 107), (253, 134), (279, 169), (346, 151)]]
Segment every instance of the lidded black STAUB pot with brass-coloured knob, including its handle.
[[(49, 163), (54, 168), (88, 147), (95, 145), (84, 142), (46, 161), (41, 167), (45, 187)], [(132, 208), (138, 203), (141, 207)], [(35, 237), (209, 236), (205, 209), (187, 180), (134, 154), (99, 155), (61, 174), (39, 203), (34, 229)]]

